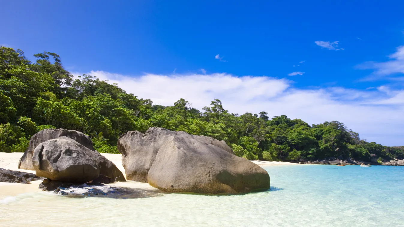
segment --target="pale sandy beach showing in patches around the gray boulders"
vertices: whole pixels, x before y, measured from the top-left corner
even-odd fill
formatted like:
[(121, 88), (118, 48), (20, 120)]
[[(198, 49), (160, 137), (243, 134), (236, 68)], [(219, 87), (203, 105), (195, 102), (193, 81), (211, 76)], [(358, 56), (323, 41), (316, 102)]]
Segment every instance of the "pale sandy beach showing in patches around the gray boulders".
[[(0, 152), (0, 168), (21, 171), (26, 173), (34, 173), (32, 170), (18, 169), (18, 162), (23, 155), (23, 152), (15, 152), (15, 153), (6, 153)], [(101, 153), (105, 158), (113, 162), (116, 167), (125, 175), (125, 169), (122, 166), (122, 155), (121, 154), (105, 154)], [(276, 162), (276, 161), (261, 161), (261, 160), (251, 160), (251, 162), (261, 166), (280, 166), (280, 165), (299, 165), (297, 163), (292, 162)], [(19, 194), (25, 194), (29, 192), (42, 192), (38, 188), (38, 185), (42, 181), (31, 181), (29, 184), (22, 183), (6, 183), (0, 182), (0, 204), (2, 204), (2, 200), (6, 199), (10, 196), (17, 196)], [(134, 188), (144, 188), (144, 189), (154, 189), (148, 183), (141, 183), (136, 181), (127, 181), (127, 182), (117, 182), (112, 183), (114, 185), (120, 185), (124, 187), (134, 187)]]

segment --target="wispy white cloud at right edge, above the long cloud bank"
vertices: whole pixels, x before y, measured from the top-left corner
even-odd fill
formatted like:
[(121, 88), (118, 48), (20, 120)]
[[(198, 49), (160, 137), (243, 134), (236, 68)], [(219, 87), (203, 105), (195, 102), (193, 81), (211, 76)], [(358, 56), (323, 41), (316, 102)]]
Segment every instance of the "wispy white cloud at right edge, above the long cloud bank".
[(394, 73), (404, 73), (404, 46), (396, 48), (396, 52), (389, 55), (386, 62), (365, 62), (357, 67), (359, 69), (374, 69), (373, 75), (366, 80), (379, 79)]

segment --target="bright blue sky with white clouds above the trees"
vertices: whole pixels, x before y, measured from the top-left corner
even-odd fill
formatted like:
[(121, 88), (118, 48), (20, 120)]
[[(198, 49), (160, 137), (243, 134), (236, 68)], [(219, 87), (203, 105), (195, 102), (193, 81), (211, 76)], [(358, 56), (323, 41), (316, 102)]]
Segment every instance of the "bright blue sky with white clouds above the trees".
[(43, 0), (2, 8), (0, 44), (31, 60), (55, 52), (75, 75), (109, 79), (156, 104), (186, 98), (201, 108), (219, 98), (231, 112), (338, 120), (368, 141), (404, 145), (403, 1)]

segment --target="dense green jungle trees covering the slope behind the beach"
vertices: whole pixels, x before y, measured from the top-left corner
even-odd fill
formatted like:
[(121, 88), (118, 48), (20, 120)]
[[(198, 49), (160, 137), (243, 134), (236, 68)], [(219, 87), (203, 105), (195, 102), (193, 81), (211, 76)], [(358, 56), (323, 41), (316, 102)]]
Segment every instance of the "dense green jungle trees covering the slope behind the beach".
[(34, 56), (36, 62), (30, 62), (21, 50), (0, 46), (1, 152), (24, 152), (36, 132), (64, 128), (90, 135), (99, 152), (118, 153), (119, 135), (155, 126), (225, 140), (247, 159), (366, 161), (370, 154), (379, 160), (404, 159), (402, 147), (360, 140), (337, 121), (310, 126), (285, 115), (269, 119), (264, 111), (238, 115), (217, 99), (202, 111), (182, 98), (173, 106), (154, 105), (90, 75), (73, 79), (55, 53)]

